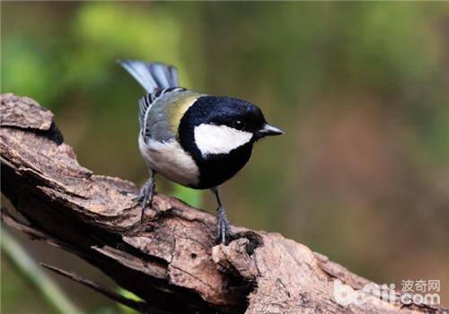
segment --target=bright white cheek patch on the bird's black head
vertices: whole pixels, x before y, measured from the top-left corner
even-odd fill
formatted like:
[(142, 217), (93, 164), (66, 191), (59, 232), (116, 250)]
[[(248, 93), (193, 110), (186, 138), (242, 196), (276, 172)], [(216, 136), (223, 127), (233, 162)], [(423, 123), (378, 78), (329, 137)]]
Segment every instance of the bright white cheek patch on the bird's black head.
[(195, 126), (195, 143), (203, 155), (229, 153), (251, 141), (252, 133), (236, 130), (230, 126), (202, 124)]

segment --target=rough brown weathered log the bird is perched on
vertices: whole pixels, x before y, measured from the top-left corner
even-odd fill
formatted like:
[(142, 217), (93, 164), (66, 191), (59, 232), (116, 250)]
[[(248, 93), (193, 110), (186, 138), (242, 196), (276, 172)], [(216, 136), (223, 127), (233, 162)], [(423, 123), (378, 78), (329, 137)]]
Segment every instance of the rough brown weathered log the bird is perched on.
[(141, 221), (136, 186), (82, 167), (50, 111), (9, 93), (0, 112), (2, 192), (28, 221), (4, 211), (4, 222), (84, 258), (147, 310), (447, 313), (375, 298), (340, 305), (335, 280), (355, 291), (369, 281), (278, 233), (233, 227), (237, 239), (216, 245), (215, 217), (170, 196), (154, 196)]

